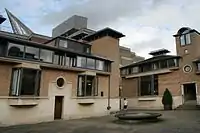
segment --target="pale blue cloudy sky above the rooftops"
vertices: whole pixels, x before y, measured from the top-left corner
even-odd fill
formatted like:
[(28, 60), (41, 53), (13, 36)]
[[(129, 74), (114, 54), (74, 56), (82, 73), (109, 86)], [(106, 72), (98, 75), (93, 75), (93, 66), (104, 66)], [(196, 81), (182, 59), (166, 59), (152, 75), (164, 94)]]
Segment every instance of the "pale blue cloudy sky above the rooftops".
[(34, 32), (49, 36), (74, 14), (88, 17), (88, 28), (122, 32), (126, 37), (120, 45), (144, 57), (160, 48), (176, 54), (172, 35), (182, 26), (200, 30), (200, 0), (1, 0), (0, 14), (6, 16), (4, 8)]

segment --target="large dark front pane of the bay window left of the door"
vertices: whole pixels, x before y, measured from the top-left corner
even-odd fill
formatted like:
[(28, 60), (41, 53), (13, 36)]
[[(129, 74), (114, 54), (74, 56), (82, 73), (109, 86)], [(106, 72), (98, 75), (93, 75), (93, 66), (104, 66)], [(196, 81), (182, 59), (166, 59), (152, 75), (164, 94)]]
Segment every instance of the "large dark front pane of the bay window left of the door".
[(37, 70), (23, 69), (21, 95), (35, 95)]

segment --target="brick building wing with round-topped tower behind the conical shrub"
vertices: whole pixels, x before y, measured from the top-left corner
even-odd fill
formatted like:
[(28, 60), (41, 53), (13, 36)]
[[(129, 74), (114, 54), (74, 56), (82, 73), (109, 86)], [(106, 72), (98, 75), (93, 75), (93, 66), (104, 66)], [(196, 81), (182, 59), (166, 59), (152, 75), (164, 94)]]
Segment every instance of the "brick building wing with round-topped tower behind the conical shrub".
[(188, 101), (200, 104), (200, 34), (183, 27), (174, 37), (177, 55), (161, 49), (151, 52), (152, 58), (121, 68), (123, 97), (130, 108), (162, 109), (166, 88), (173, 95), (173, 108)]

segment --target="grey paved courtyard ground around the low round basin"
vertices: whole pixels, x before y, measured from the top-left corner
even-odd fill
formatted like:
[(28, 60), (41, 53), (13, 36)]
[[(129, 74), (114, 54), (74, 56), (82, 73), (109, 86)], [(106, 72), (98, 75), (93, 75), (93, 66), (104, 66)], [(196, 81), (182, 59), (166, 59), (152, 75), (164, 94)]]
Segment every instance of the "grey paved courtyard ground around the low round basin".
[(1, 127), (0, 133), (200, 133), (200, 111), (161, 111), (155, 123), (122, 123), (112, 116)]

